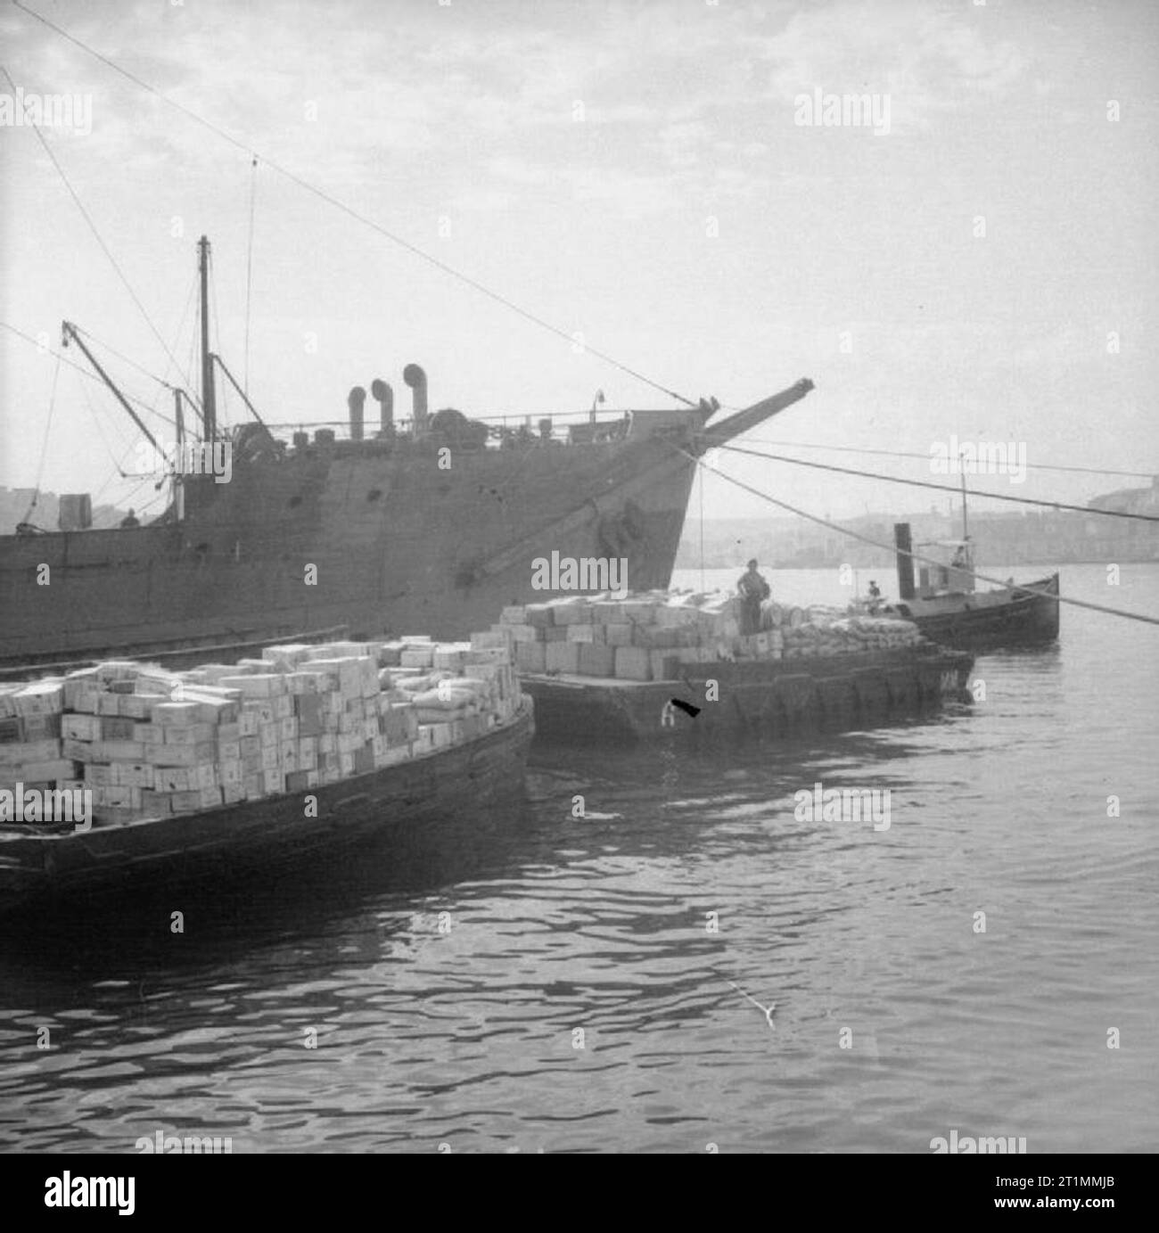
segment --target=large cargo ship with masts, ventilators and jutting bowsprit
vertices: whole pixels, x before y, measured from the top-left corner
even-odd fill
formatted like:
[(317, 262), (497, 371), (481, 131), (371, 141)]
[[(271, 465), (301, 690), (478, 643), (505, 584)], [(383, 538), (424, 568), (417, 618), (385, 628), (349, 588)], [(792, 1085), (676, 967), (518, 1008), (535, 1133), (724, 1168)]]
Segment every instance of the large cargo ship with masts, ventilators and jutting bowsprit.
[[(0, 538), (0, 668), (63, 666), (259, 642), (344, 626), (354, 637), (407, 629), (462, 637), (502, 605), (536, 598), (533, 562), (626, 560), (633, 588), (665, 587), (695, 459), (803, 398), (808, 379), (711, 423), (719, 404), (470, 419), (429, 411), (428, 379), (408, 364), (409, 416), (395, 391), (355, 386), (344, 424), (254, 420), (223, 429), (208, 349), (208, 242), (200, 245), (200, 408), (175, 393), (201, 446), (228, 448), (221, 475), (169, 476), (171, 499), (148, 525), (94, 529), (84, 494), (62, 525)], [(122, 408), (129, 402), (65, 323)], [(192, 412), (197, 413), (194, 423)], [(194, 434), (190, 433), (190, 440)], [(179, 440), (179, 444), (182, 444)]]

